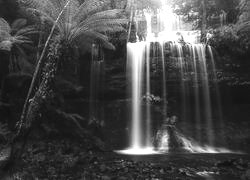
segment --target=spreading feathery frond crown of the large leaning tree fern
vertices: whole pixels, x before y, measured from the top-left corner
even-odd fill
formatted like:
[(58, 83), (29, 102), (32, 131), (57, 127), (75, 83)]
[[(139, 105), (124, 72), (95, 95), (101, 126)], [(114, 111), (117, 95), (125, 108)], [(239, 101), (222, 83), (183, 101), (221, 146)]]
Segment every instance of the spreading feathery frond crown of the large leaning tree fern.
[[(66, 0), (20, 0), (35, 15), (42, 16), (47, 23), (54, 24), (63, 10)], [(79, 45), (80, 50), (91, 49), (98, 39), (108, 48), (108, 33), (122, 31), (126, 19), (122, 10), (105, 10), (108, 0), (86, 0), (82, 4), (71, 0), (56, 25), (57, 34), (72, 47)]]

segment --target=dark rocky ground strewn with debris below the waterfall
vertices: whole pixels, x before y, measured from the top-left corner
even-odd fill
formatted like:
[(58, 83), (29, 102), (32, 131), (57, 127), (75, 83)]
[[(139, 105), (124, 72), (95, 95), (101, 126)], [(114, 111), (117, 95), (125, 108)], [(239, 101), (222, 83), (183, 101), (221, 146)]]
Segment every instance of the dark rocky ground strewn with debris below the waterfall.
[[(88, 140), (30, 141), (14, 180), (248, 180), (248, 155), (123, 156)], [(10, 178), (11, 177), (11, 178)], [(0, 178), (1, 179), (1, 178)], [(7, 179), (2, 177), (2, 179)]]

